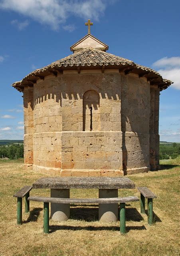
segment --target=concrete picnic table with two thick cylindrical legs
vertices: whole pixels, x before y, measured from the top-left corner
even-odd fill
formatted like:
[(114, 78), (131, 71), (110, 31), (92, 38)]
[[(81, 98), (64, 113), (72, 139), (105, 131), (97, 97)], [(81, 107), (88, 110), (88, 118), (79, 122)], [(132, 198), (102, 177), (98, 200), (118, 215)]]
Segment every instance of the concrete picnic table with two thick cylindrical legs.
[[(135, 183), (127, 177), (49, 177), (40, 178), (32, 185), (33, 189), (48, 188), (52, 198), (69, 198), (70, 189), (99, 189), (99, 198), (117, 198), (118, 189), (135, 188)], [(70, 204), (51, 203), (51, 219), (67, 220), (70, 217)], [(99, 204), (99, 220), (118, 220), (118, 204)]]

